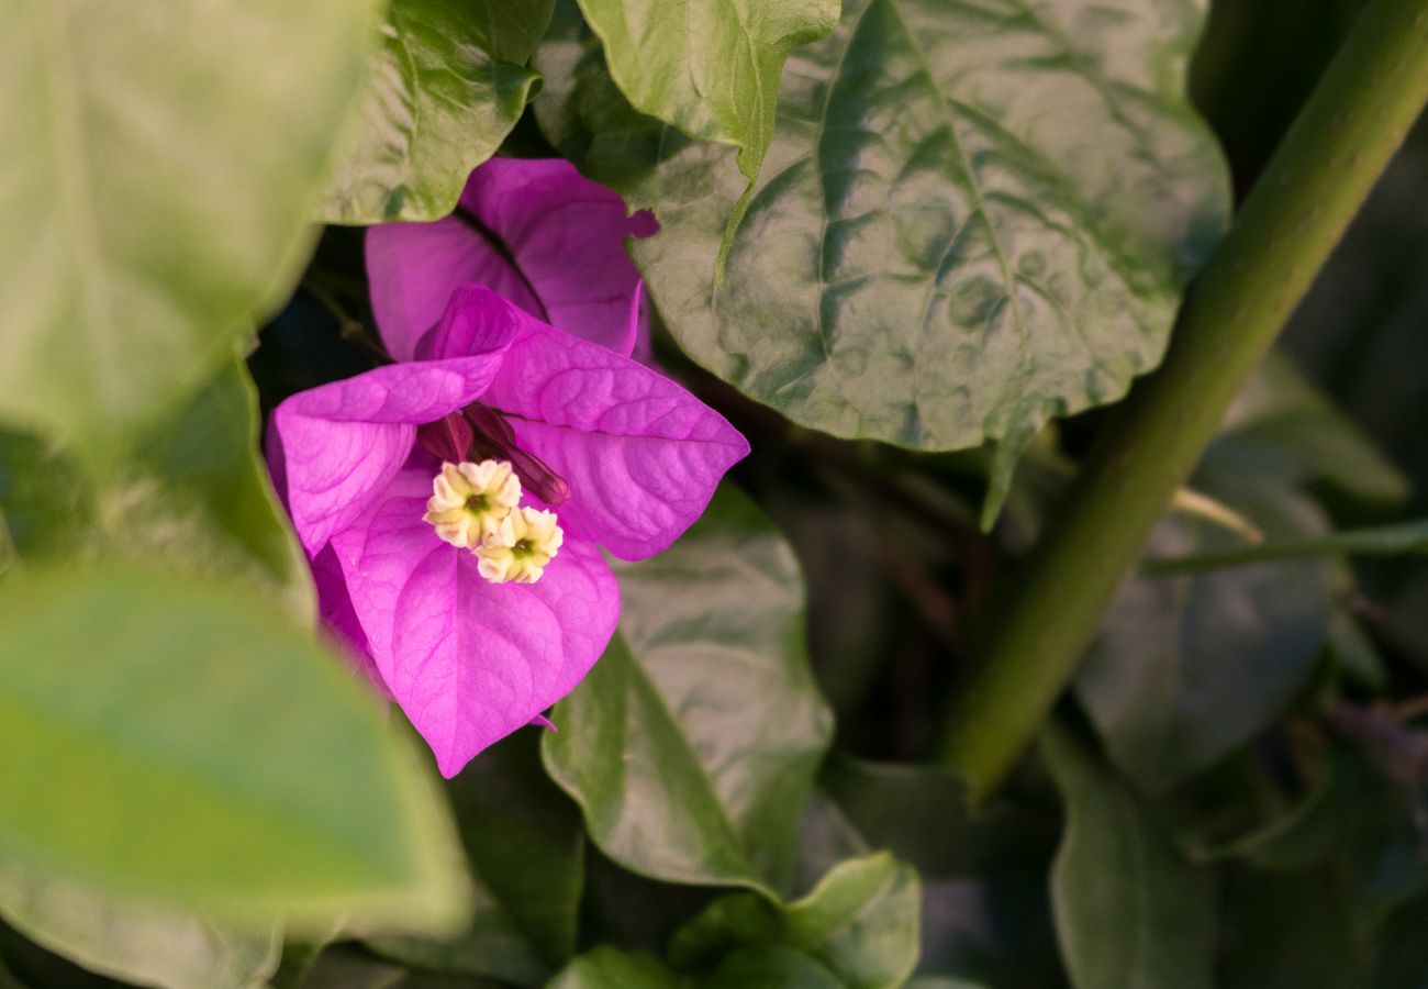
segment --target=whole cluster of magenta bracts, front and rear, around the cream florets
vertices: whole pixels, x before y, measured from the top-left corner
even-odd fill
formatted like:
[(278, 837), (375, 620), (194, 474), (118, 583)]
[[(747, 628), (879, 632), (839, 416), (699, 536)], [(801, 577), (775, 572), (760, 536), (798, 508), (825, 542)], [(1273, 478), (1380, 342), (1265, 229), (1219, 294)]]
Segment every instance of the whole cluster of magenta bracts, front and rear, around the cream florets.
[[(620, 617), (600, 550), (660, 552), (748, 452), (718, 413), (627, 356), (640, 282), (621, 244), (653, 220), (625, 217), (618, 196), (564, 161), (490, 161), (461, 202), (476, 224), (368, 234), (373, 300), (398, 363), (294, 394), (268, 432), (324, 622), (446, 776), (598, 659)], [(548, 472), (523, 505), (547, 507), (533, 490), (564, 499), (564, 545), (536, 583), (491, 583), (474, 553), (423, 520), (441, 462), (418, 430), (453, 413), (488, 424), (507, 459)]]

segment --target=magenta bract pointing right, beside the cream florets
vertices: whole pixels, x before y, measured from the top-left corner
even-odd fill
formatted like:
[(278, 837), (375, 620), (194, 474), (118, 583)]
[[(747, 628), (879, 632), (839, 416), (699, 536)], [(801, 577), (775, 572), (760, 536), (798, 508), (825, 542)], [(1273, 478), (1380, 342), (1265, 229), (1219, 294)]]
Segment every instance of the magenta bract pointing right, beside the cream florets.
[(516, 336), (481, 402), (506, 413), (516, 442), (570, 482), (555, 506), (575, 539), (638, 560), (678, 539), (704, 512), (748, 443), (675, 382), (630, 357), (574, 340), (500, 296), (471, 287), (461, 346)]

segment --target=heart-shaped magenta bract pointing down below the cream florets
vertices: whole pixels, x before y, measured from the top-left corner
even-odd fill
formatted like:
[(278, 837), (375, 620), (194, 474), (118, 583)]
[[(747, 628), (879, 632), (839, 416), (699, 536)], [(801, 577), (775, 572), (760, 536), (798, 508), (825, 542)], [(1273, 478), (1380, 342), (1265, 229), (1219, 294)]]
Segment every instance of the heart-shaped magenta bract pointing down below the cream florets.
[(614, 635), (620, 589), (578, 542), (534, 585), (488, 583), (421, 522), (430, 486), (403, 470), (333, 547), (387, 686), (454, 776), (580, 683)]

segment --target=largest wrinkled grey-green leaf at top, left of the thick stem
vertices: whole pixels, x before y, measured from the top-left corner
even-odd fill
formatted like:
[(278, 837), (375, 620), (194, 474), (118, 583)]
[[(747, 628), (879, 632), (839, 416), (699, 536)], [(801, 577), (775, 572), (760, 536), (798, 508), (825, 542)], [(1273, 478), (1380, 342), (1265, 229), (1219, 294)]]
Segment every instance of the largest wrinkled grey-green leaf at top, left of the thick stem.
[(565, 16), (536, 106), (588, 174), (654, 209), (631, 254), (701, 364), (838, 436), (1015, 450), (1158, 362), (1224, 226), (1184, 96), (1202, 6), (851, 0), (788, 60), (721, 284), (728, 149), (621, 106)]

